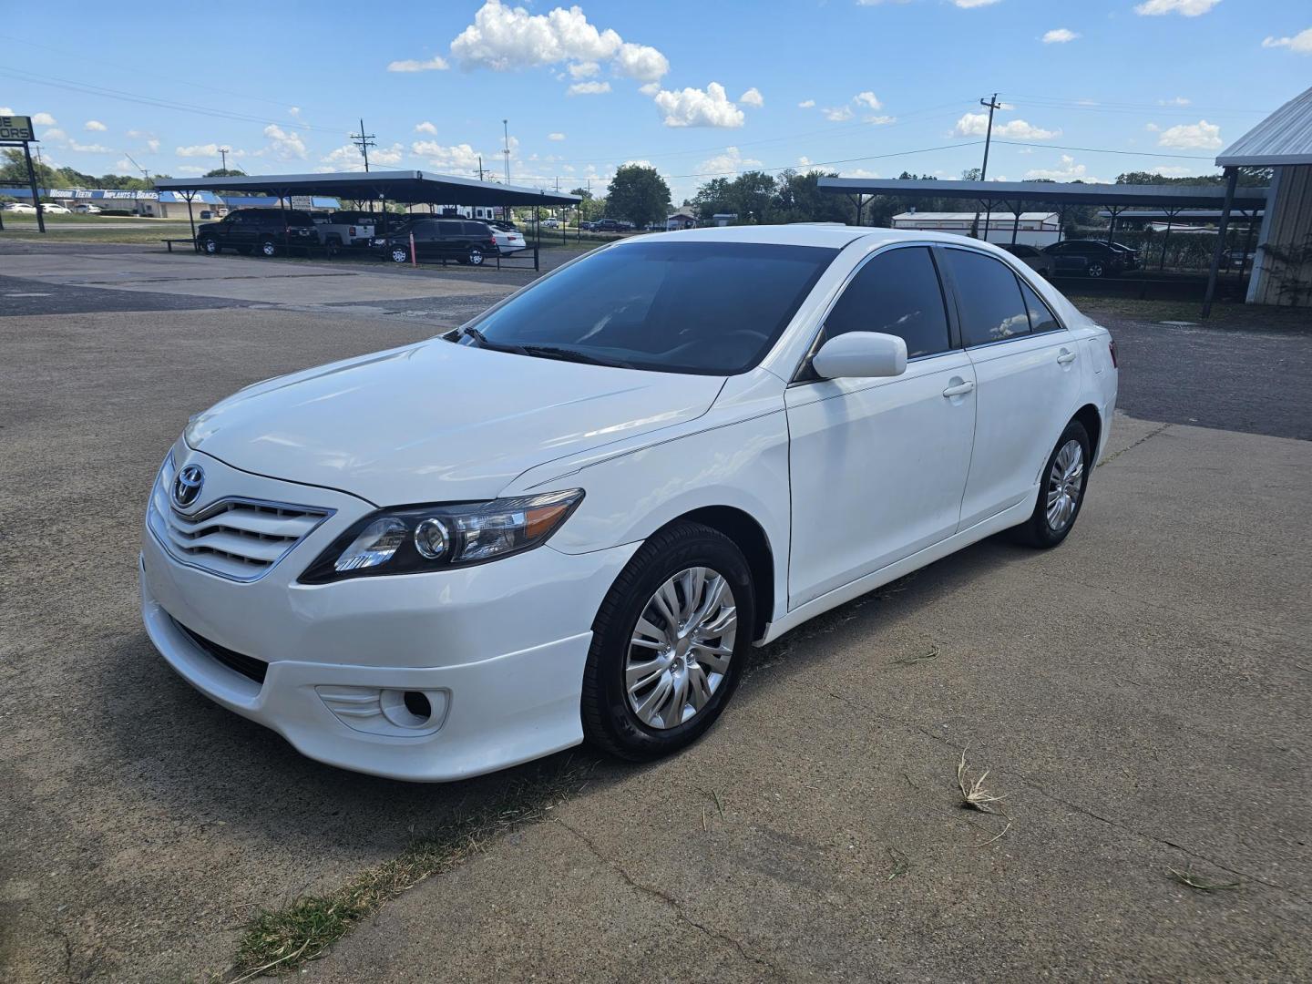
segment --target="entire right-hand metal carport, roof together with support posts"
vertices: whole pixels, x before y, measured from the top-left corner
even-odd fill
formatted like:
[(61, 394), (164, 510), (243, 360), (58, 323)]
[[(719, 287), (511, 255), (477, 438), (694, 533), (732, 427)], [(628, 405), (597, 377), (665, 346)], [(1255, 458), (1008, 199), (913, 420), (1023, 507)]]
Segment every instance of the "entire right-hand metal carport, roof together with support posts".
[[(1019, 215), (1023, 203), (1046, 202), (1059, 209), (1068, 205), (1093, 205), (1105, 209), (1111, 223), (1107, 241), (1117, 230), (1117, 216), (1131, 209), (1160, 209), (1178, 213), (1185, 209), (1220, 209), (1221, 222), (1216, 237), (1216, 256), (1208, 277), (1203, 315), (1211, 310), (1216, 289), (1216, 270), (1225, 241), (1229, 213), (1237, 206), (1256, 213), (1266, 205), (1267, 188), (1237, 188), (1236, 172), (1227, 169), (1224, 185), (1085, 185), (1051, 181), (904, 181), (857, 177), (821, 177), (819, 188), (830, 194), (846, 194), (857, 206), (857, 222), (866, 197), (897, 195), (901, 198), (966, 198), (983, 206), (987, 215), (998, 205), (1013, 215)], [(985, 236), (988, 231), (985, 230)]]

